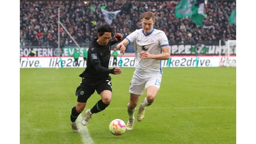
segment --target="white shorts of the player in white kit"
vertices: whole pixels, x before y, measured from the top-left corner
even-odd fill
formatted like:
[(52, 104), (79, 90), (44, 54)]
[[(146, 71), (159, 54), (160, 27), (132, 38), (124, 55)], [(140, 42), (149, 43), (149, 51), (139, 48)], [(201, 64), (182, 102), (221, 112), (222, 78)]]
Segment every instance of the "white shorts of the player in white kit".
[(159, 89), (161, 80), (161, 74), (148, 77), (138, 77), (134, 74), (130, 83), (129, 92), (135, 95), (142, 95), (144, 89), (148, 86), (156, 86)]

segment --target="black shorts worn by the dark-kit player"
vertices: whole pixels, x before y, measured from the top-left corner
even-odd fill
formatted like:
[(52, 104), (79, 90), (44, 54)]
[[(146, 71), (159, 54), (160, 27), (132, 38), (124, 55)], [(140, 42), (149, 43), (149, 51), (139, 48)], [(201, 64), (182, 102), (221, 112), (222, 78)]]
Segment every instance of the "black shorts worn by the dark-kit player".
[(77, 102), (87, 102), (87, 100), (91, 97), (91, 95), (97, 91), (98, 94), (103, 92), (104, 90), (109, 90), (112, 92), (112, 84), (111, 77), (102, 81), (99, 84), (88, 84), (82, 83), (76, 89)]

